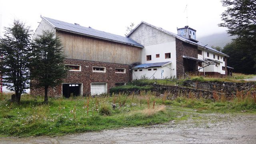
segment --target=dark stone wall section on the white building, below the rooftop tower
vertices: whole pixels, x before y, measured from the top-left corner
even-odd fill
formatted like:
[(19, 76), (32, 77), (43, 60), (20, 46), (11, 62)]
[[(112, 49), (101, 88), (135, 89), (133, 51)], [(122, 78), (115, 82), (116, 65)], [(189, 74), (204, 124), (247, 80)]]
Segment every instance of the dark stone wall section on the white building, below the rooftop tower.
[[(182, 56), (188, 56), (192, 58), (197, 58), (197, 46), (192, 44), (188, 44), (176, 38), (176, 73), (177, 78), (183, 76), (183, 69), (184, 69), (184, 58)], [(194, 69), (197, 70), (198, 66), (194, 65)]]

